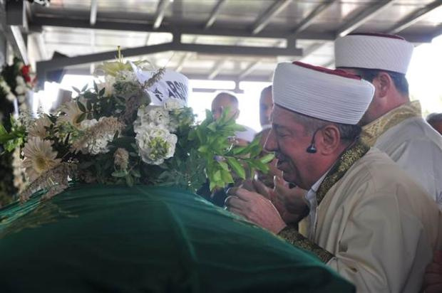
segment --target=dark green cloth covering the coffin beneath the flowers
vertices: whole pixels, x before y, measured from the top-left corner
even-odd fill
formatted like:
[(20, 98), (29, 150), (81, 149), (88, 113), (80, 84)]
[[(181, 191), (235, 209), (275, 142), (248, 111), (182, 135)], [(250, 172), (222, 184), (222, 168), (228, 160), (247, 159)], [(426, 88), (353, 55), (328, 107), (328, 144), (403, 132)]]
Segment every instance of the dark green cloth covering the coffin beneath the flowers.
[(180, 189), (40, 196), (0, 210), (0, 292), (354, 292), (314, 255)]

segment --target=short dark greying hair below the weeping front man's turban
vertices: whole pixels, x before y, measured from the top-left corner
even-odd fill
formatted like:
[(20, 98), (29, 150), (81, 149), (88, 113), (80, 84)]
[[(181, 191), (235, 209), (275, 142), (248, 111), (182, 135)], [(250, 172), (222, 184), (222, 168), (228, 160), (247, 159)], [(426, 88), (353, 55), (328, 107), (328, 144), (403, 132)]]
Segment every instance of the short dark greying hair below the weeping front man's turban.
[(359, 125), (329, 122), (304, 114), (294, 113), (294, 119), (304, 125), (304, 129), (308, 134), (313, 134), (317, 129), (333, 124), (339, 129), (341, 141), (354, 141), (361, 135), (361, 127)]

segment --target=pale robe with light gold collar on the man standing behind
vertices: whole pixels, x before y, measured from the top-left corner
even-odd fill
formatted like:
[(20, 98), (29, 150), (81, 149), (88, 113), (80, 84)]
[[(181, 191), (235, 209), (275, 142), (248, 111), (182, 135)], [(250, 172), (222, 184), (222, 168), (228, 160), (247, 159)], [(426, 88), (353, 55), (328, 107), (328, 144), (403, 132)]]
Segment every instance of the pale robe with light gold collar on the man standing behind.
[(418, 101), (363, 127), (365, 143), (384, 151), (442, 208), (442, 136), (421, 116)]

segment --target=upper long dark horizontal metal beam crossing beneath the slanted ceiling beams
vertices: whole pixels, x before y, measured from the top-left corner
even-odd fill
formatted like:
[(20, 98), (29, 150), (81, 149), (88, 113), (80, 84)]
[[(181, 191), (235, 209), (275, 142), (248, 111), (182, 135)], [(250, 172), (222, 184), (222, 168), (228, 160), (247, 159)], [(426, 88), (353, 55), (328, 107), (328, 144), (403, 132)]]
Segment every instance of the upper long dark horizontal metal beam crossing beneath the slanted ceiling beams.
[[(151, 24), (134, 23), (134, 22), (116, 22), (116, 21), (100, 21), (97, 20), (95, 26), (91, 26), (87, 18), (61, 18), (59, 16), (34, 16), (32, 22), (33, 26), (57, 26), (65, 28), (95, 28), (113, 31), (143, 31), (156, 33), (173, 33), (178, 32), (182, 35), (200, 35), (200, 36), (232, 36), (232, 37), (255, 37), (255, 38), (287, 38), (290, 31), (261, 31), (256, 35), (252, 35), (250, 30), (245, 28), (208, 28), (205, 30), (201, 26), (182, 25), (175, 26), (172, 24), (163, 24), (158, 29), (154, 29)], [(412, 43), (429, 43), (433, 38), (433, 34), (408, 34), (402, 35)], [(309, 32), (301, 31), (297, 34), (297, 40), (320, 40), (320, 41), (334, 41), (336, 39), (335, 33), (323, 32)]]

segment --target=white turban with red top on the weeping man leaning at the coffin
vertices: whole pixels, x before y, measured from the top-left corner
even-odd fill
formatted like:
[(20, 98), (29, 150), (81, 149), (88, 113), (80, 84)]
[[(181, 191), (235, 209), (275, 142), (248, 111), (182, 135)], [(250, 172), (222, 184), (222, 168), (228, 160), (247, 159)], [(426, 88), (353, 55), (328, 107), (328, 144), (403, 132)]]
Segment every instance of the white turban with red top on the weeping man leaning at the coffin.
[(357, 124), (374, 86), (358, 75), (305, 63), (279, 63), (273, 75), (274, 104), (329, 122)]

